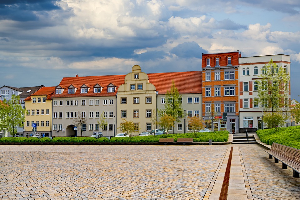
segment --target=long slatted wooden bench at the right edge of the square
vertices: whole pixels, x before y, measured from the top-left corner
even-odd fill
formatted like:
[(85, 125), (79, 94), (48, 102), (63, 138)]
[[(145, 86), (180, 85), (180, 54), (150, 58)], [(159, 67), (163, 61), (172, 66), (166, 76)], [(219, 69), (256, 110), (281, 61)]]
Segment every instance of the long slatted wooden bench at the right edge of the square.
[(292, 168), (293, 177), (299, 178), (300, 173), (300, 149), (287, 147), (282, 144), (273, 143), (270, 150), (263, 149), (269, 154), (269, 158), (274, 156), (275, 163), (280, 161), (282, 163), (282, 169), (286, 169), (287, 166)]

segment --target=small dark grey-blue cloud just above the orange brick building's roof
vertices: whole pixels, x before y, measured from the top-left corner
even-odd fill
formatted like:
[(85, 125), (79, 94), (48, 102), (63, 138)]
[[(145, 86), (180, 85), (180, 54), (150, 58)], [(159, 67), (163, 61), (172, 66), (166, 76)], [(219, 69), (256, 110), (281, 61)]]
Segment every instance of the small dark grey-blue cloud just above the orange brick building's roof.
[(170, 53), (177, 55), (180, 58), (202, 58), (202, 53), (207, 53), (196, 42), (184, 42), (174, 47)]

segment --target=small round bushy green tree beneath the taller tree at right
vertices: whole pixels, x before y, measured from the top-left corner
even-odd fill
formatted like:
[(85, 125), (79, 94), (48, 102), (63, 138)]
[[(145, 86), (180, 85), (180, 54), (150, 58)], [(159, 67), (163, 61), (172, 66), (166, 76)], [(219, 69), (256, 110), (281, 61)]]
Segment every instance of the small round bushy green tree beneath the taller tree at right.
[(279, 131), (285, 122), (286, 118), (284, 114), (281, 114), (280, 112), (267, 113), (263, 115), (263, 123), (267, 127), (272, 128), (275, 132)]

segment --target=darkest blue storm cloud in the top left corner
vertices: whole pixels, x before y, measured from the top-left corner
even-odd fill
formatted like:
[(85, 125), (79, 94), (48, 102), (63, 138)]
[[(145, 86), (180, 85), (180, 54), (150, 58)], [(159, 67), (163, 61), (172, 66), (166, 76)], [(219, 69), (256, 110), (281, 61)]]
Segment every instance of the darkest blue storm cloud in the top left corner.
[(36, 21), (34, 12), (58, 10), (53, 0), (4, 0), (0, 1), (0, 20)]

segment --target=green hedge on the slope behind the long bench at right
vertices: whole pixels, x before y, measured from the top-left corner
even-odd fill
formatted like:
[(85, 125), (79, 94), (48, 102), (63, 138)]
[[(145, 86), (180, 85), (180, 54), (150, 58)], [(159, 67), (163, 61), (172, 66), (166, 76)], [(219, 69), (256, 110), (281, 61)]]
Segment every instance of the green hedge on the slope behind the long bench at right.
[(278, 143), (300, 149), (300, 126), (280, 128), (277, 132), (273, 129), (257, 130), (256, 133), (262, 143)]

